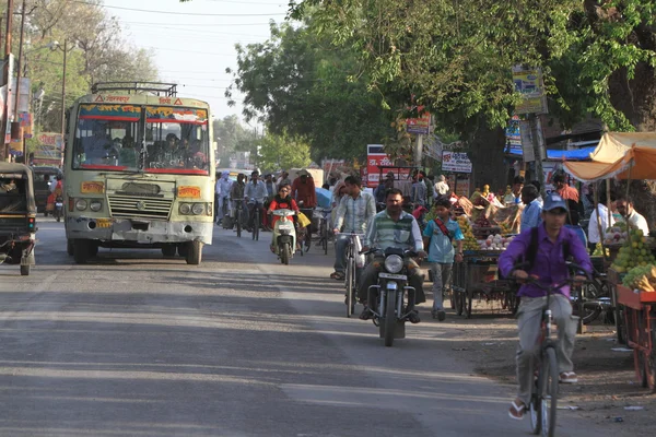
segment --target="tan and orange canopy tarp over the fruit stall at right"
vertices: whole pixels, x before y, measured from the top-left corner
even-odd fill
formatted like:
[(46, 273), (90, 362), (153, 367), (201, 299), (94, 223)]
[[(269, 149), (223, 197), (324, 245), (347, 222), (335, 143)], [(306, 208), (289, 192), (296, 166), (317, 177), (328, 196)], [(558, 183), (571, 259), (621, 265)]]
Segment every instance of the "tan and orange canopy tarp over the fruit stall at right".
[(607, 132), (590, 153), (590, 162), (564, 164), (578, 180), (656, 179), (656, 132)]

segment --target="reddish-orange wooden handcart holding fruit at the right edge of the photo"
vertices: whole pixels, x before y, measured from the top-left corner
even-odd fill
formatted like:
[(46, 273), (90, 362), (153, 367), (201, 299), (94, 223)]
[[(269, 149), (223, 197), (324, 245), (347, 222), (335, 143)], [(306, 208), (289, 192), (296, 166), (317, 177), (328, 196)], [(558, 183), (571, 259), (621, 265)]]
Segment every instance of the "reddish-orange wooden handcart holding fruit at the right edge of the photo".
[(624, 306), (626, 344), (633, 349), (635, 378), (656, 393), (656, 293), (617, 286), (618, 302)]

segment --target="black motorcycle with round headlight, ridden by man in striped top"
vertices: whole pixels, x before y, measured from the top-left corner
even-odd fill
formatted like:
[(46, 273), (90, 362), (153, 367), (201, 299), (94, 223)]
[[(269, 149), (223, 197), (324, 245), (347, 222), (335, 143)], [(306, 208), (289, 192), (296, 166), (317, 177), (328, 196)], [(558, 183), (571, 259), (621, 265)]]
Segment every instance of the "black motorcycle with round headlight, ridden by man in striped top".
[(374, 315), (373, 321), (378, 327), (380, 338), (385, 339), (385, 345), (389, 347), (394, 344), (395, 339), (406, 338), (406, 322), (410, 316), (408, 302), (414, 302), (417, 293), (414, 287), (408, 285), (408, 269), (406, 265), (408, 260), (417, 257), (418, 253), (395, 247), (389, 247), (385, 251), (372, 249), (365, 252), (365, 255), (368, 253), (384, 253), (385, 256), (385, 261), (380, 263), (382, 271), (378, 273), (378, 284), (370, 286), (367, 302), (374, 302), (372, 288), (377, 288), (376, 310), (371, 309)]

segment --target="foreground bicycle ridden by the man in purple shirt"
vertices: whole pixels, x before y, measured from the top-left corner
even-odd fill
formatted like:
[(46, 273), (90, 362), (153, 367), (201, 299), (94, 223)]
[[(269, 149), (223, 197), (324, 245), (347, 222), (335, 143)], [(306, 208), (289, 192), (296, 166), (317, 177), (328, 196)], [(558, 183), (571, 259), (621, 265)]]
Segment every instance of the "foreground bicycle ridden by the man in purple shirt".
[[(574, 263), (567, 263), (571, 270), (583, 271)], [(525, 264), (520, 264), (515, 270), (522, 270)], [(565, 285), (576, 285), (572, 279), (561, 281), (555, 285), (544, 285), (535, 276), (517, 281), (523, 284), (532, 284), (547, 292), (547, 302), (542, 307), (540, 318), (540, 353), (538, 356), (537, 370), (535, 375), (531, 398), (528, 406), (530, 413), (531, 432), (535, 435), (542, 433), (543, 437), (555, 436), (555, 420), (558, 412), (558, 385), (560, 380), (560, 370), (557, 359), (557, 339), (552, 338), (553, 315), (550, 308), (551, 297), (555, 291)]]

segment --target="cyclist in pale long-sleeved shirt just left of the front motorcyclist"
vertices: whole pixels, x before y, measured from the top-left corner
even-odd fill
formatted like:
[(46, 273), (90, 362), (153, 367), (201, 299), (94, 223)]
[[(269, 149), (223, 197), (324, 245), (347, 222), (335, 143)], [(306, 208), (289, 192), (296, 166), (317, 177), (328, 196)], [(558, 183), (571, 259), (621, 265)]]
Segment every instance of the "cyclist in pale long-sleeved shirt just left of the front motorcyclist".
[[(362, 180), (358, 176), (349, 176), (344, 179), (348, 196), (342, 197), (337, 209), (335, 220), (335, 234), (366, 233), (367, 223), (376, 215), (376, 201), (368, 192), (362, 191)], [(347, 246), (349, 237), (340, 235), (335, 241), (335, 272), (330, 274), (333, 280), (344, 279), (347, 264)]]

